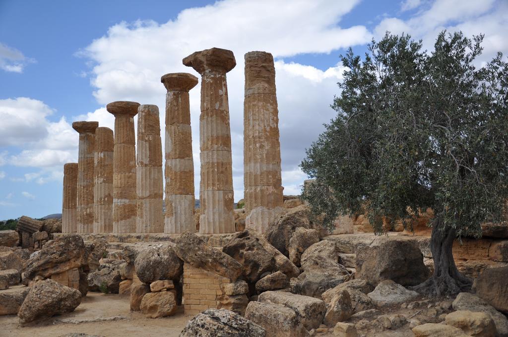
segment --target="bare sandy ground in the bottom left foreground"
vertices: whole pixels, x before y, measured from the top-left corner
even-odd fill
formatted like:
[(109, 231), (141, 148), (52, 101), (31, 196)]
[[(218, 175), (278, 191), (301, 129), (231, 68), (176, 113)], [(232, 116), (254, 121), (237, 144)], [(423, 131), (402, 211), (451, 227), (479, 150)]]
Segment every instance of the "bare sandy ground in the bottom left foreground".
[(174, 316), (145, 318), (139, 312), (131, 313), (129, 297), (88, 292), (74, 312), (34, 325), (20, 326), (15, 315), (0, 316), (0, 336), (57, 337), (81, 332), (105, 337), (176, 337), (190, 318), (183, 314), (183, 308)]

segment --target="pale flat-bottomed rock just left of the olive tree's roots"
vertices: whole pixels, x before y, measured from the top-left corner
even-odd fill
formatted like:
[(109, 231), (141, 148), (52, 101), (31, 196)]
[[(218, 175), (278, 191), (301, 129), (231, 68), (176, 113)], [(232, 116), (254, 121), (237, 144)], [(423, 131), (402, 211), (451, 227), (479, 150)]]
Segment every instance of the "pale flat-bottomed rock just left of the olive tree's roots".
[(370, 297), (372, 303), (377, 307), (386, 307), (401, 305), (404, 302), (414, 300), (420, 294), (416, 291), (408, 290), (392, 280), (386, 280), (380, 282), (374, 291), (369, 292), (367, 296)]

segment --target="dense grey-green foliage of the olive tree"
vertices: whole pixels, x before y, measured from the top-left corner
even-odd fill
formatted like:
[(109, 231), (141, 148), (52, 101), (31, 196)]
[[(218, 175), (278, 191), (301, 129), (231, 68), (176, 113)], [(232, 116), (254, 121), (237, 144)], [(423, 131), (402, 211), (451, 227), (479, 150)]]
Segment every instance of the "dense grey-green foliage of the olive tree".
[(432, 208), (442, 228), (481, 235), (508, 197), (508, 66), (498, 53), (477, 68), (483, 36), (441, 32), (434, 51), (407, 35), (372, 41), (349, 71), (332, 108), (338, 115), (307, 149), (302, 191), (330, 227), (339, 214), (366, 213), (411, 228)]

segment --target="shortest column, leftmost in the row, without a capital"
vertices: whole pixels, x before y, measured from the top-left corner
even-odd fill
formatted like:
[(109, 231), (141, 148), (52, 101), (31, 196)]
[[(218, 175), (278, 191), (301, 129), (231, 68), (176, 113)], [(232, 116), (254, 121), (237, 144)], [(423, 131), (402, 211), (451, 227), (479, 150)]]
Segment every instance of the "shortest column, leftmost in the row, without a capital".
[(62, 193), (62, 233), (75, 233), (78, 230), (78, 163), (70, 162), (63, 165)]

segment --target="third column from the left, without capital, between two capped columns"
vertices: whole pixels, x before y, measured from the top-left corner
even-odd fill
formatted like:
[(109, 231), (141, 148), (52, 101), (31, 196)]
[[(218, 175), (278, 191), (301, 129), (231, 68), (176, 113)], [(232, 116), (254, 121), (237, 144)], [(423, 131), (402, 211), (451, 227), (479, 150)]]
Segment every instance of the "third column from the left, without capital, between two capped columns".
[(113, 231), (113, 146), (113, 130), (98, 127), (93, 174), (93, 199), (96, 205), (93, 215), (94, 233)]

